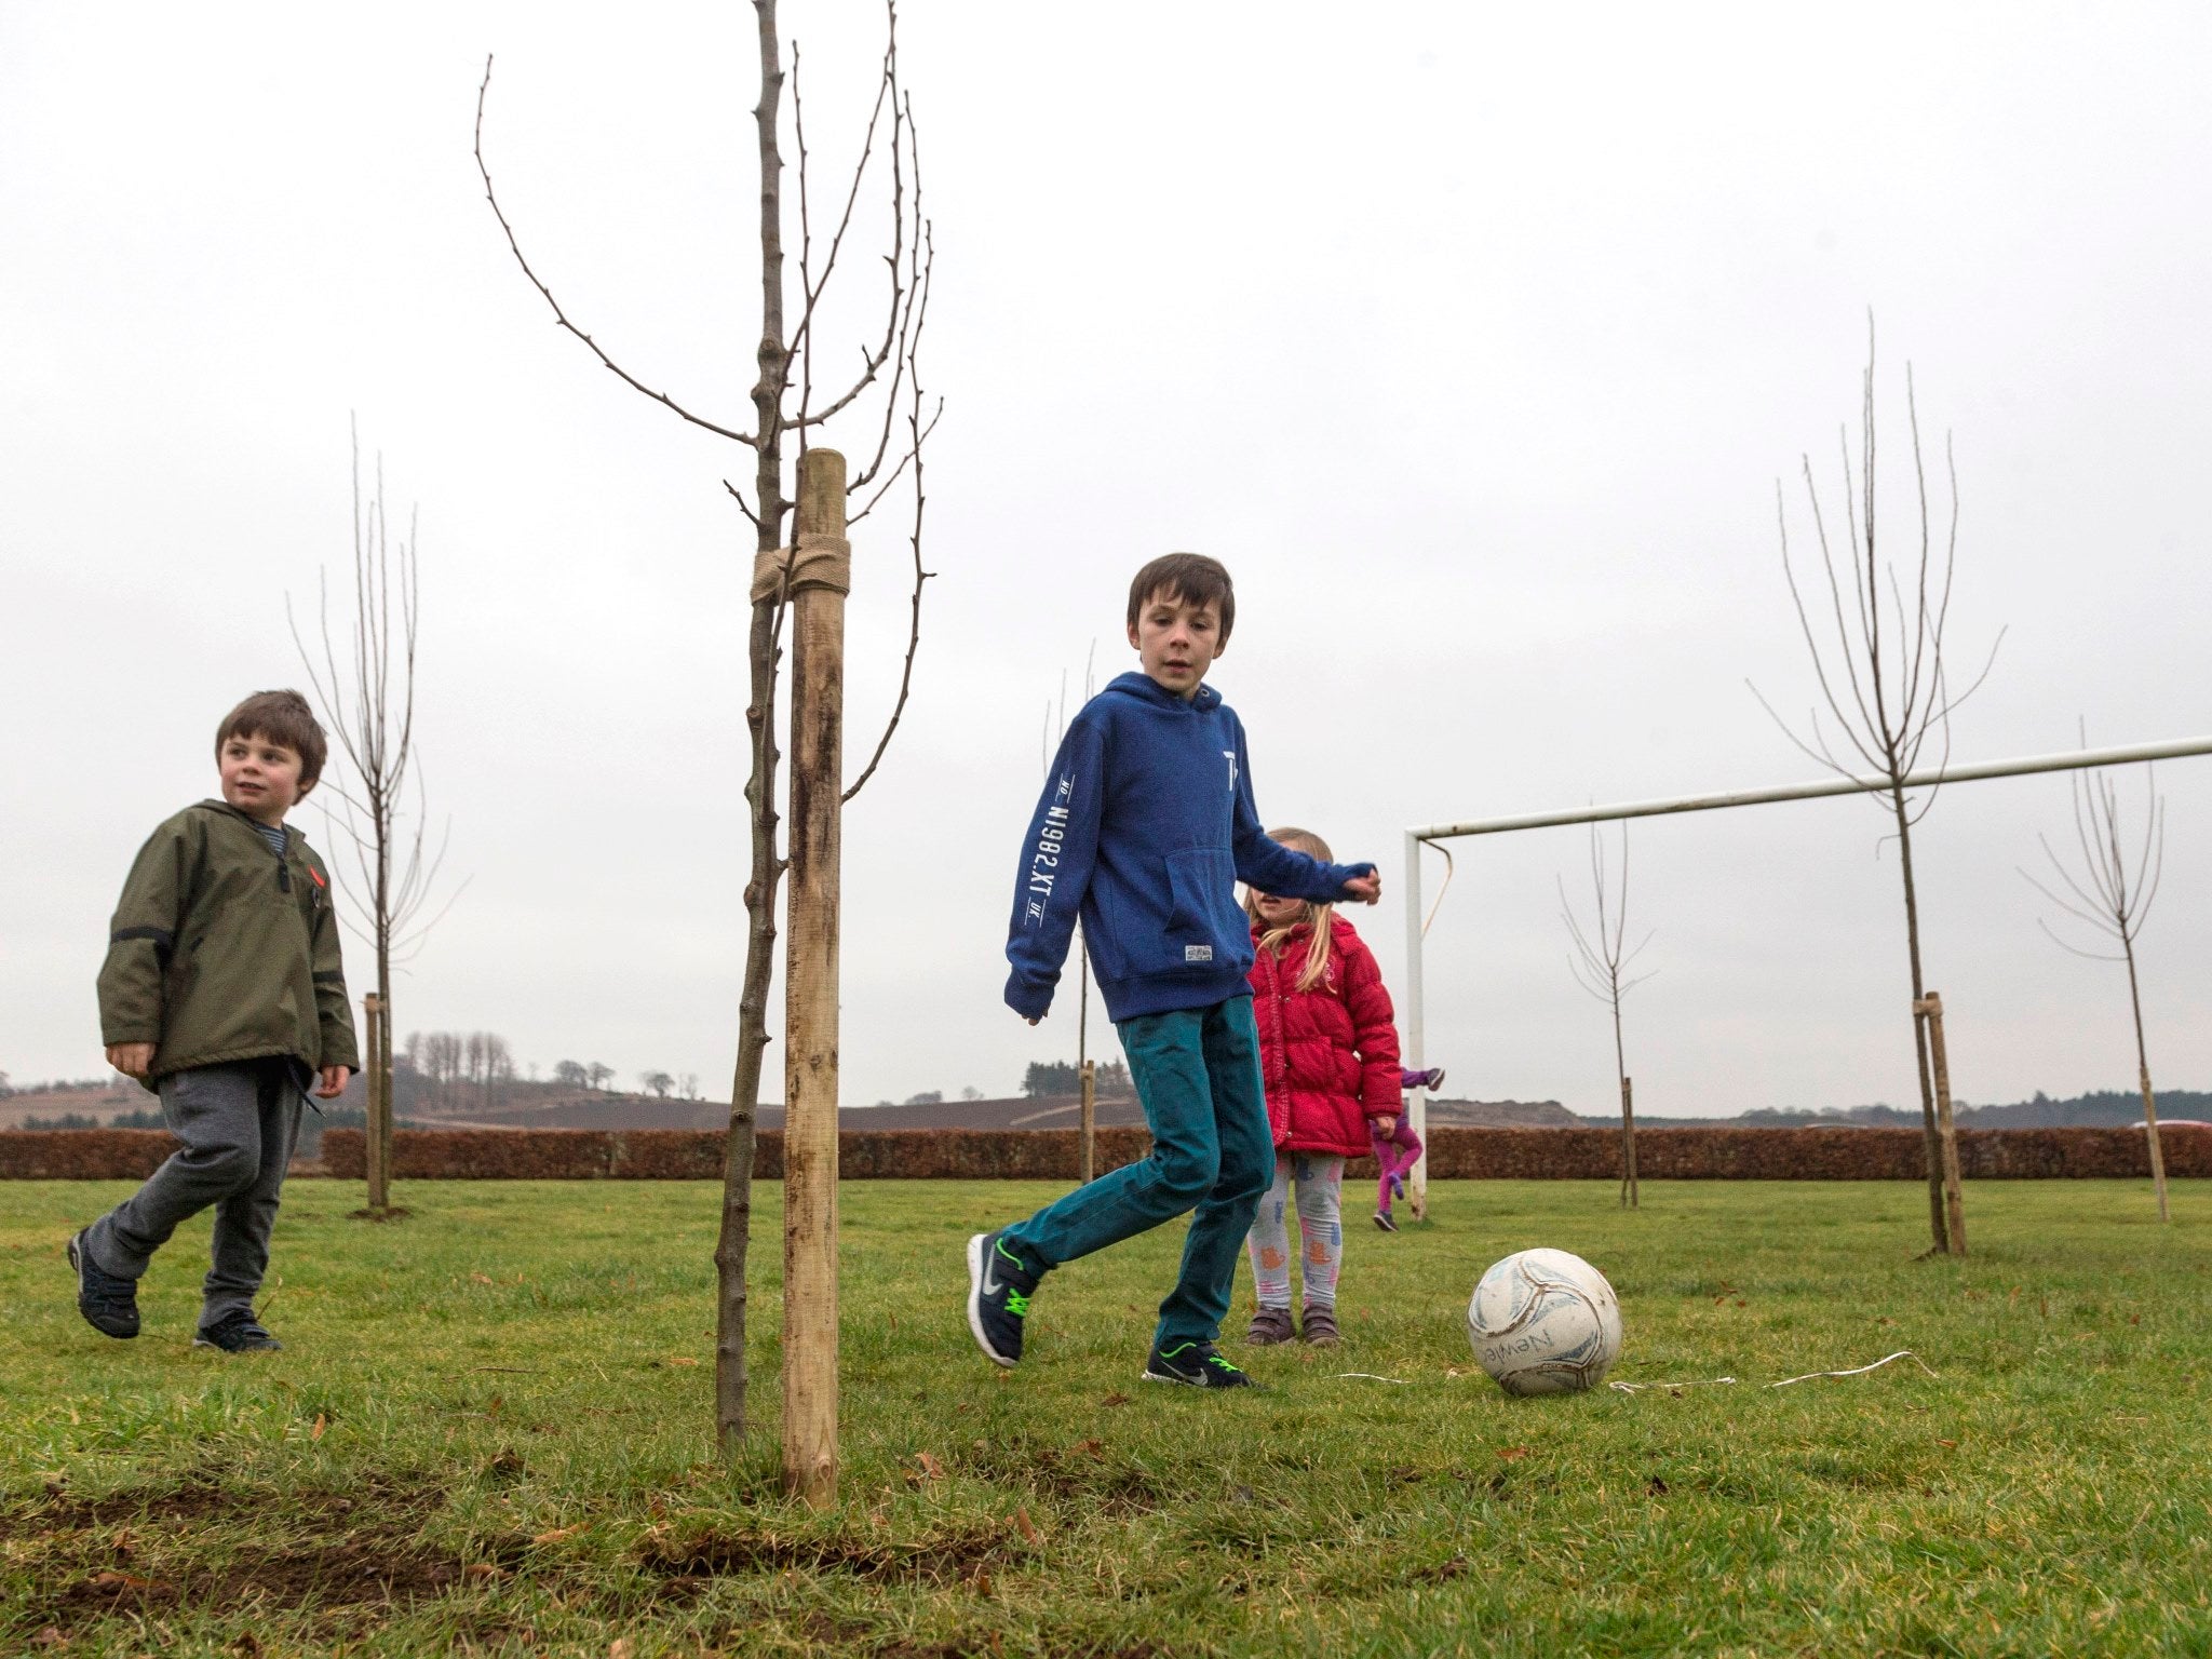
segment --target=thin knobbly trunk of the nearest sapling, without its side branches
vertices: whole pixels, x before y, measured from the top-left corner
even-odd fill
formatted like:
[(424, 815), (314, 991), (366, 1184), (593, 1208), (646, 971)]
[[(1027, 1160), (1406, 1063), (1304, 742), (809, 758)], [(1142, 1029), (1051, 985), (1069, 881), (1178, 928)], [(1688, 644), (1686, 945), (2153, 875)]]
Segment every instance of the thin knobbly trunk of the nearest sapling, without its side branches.
[[(754, 0), (761, 40), (761, 102), (752, 117), (761, 155), (761, 378), (752, 387), (759, 420), (754, 495), (757, 549), (774, 553), (783, 533), (783, 387), (790, 358), (783, 349), (783, 159), (776, 122), (783, 66), (776, 42), (776, 0)], [(776, 967), (776, 613), (779, 597), (752, 606), (745, 657), (752, 670), (745, 728), (752, 737), (752, 878), (745, 883), (745, 980), (737, 1004), (737, 1073), (730, 1082), (730, 1137), (721, 1177), (721, 1237), (714, 1245), (714, 1431), (723, 1458), (734, 1460), (745, 1433), (745, 1250), (752, 1228), (752, 1137), (761, 1104), (761, 1057), (768, 1048), (768, 982)]]

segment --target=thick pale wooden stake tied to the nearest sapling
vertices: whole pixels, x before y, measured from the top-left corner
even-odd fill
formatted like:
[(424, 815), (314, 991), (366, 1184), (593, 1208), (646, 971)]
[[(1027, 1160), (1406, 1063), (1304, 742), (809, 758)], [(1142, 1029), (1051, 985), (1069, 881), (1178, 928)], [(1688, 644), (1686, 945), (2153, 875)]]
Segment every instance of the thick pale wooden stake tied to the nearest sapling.
[(783, 1048), (783, 1489), (836, 1502), (838, 852), (845, 792), (845, 456), (799, 458)]

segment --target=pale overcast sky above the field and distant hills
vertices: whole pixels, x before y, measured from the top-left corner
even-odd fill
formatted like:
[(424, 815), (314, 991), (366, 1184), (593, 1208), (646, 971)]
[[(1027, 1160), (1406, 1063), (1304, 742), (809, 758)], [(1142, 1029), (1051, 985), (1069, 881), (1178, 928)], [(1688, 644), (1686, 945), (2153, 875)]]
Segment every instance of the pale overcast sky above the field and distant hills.
[[(783, 22), (830, 179), (883, 13)], [(0, 7), (0, 1071), (100, 1071), (122, 876), (215, 792), (223, 710), (303, 679), (285, 606), (349, 566), (358, 422), (394, 520), (416, 513), (418, 750), (449, 827), (400, 1033), (728, 1091), (750, 526), (721, 480), (750, 451), (553, 327), (471, 122), (495, 53), (487, 153), (533, 263), (639, 378), (743, 425), (750, 31), (750, 7), (650, 0), (619, 27)], [(1816, 776), (1745, 681), (1792, 719), (1818, 695), (1776, 487), (1803, 549), (1801, 458), (1834, 513), (1869, 314), (1882, 540), (1918, 533), (1911, 365), (1927, 456), (1955, 456), (1955, 661), (2002, 630), (1953, 754), (2212, 732), (2203, 7), (1405, 2), (1347, 29), (1321, 4), (909, 0), (900, 53), (938, 252), (940, 575), (914, 703), (845, 816), (847, 1104), (1013, 1093), (1073, 1057), (1073, 995), (1035, 1031), (1004, 1009), (1004, 927), (1062, 686), (1073, 708), (1086, 661), (1135, 666), (1126, 586), (1157, 553), (1237, 575), (1212, 684), (1263, 816), (1380, 865), (1354, 920), (1394, 991), (1407, 825)], [(823, 332), (856, 354), (852, 270)], [(856, 533), (856, 763), (898, 681), (902, 535)], [(2119, 783), (2139, 814), (2141, 772)], [(2154, 787), (2150, 1062), (2212, 1088), (2212, 759)], [(294, 821), (336, 860), (312, 803)], [(1916, 838), (1969, 1102), (2132, 1084), (2124, 971), (2053, 945), (2017, 874), (2039, 834), (2070, 841), (2064, 779), (1947, 790)], [(1641, 1113), (1913, 1099), (1869, 803), (1644, 823), (1630, 849)], [(1582, 830), (1455, 845), (1427, 938), (1449, 1093), (1613, 1106), (1559, 920), (1586, 854)], [(1091, 1040), (1113, 1053), (1095, 1004)]]

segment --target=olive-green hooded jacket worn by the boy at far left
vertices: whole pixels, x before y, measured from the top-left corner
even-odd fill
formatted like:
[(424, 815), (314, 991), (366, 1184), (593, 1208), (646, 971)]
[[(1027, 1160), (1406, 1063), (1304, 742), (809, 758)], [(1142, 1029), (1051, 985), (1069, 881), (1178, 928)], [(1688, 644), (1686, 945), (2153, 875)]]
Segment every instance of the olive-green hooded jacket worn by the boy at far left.
[(100, 1035), (155, 1044), (150, 1077), (294, 1055), (358, 1066), (330, 872), (299, 830), (276, 856), (223, 801), (139, 847), (100, 967)]

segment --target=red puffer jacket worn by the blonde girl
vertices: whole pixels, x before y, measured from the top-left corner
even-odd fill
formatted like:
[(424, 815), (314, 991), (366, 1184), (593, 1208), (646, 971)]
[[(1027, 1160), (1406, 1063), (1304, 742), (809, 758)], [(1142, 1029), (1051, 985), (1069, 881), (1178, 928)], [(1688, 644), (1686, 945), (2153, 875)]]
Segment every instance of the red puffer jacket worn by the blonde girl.
[(1369, 1150), (1367, 1119), (1398, 1115), (1398, 1031), (1374, 953), (1343, 916), (1329, 918), (1329, 969), (1298, 989), (1312, 933), (1290, 931), (1281, 956), (1252, 929), (1252, 1018), (1259, 1022), (1267, 1128), (1283, 1152)]

